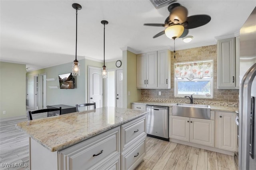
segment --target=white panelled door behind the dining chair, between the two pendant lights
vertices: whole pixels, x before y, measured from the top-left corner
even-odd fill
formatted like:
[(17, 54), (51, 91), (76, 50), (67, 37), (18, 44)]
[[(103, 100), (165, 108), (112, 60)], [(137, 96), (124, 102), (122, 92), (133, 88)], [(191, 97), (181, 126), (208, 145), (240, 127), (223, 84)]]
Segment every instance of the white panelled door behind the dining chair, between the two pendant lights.
[(96, 108), (102, 107), (102, 78), (101, 68), (91, 67), (88, 68), (88, 80), (89, 80), (89, 93), (88, 101), (90, 103), (96, 103)]

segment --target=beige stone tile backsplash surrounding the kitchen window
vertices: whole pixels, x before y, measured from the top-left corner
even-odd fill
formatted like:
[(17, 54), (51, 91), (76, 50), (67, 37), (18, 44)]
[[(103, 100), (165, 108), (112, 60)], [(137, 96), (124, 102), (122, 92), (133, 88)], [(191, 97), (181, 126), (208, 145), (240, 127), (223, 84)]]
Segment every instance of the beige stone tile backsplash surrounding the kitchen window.
[[(174, 97), (174, 63), (187, 61), (200, 61), (212, 59), (214, 62), (214, 94), (212, 99), (194, 98), (195, 104), (222, 105), (238, 107), (238, 89), (218, 89), (217, 88), (217, 45), (209, 45), (192, 49), (176, 51), (175, 59), (172, 52), (171, 57), (171, 89), (142, 89), (141, 100), (150, 102), (181, 102), (189, 103), (188, 98)], [(161, 91), (161, 96), (158, 92)]]

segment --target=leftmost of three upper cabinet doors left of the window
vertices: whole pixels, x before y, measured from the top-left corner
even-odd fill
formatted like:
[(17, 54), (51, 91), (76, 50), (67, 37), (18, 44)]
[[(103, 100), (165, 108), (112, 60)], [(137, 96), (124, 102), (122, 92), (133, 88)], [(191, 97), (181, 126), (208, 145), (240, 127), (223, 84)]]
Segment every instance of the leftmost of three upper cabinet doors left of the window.
[(146, 54), (137, 55), (137, 88), (146, 88)]

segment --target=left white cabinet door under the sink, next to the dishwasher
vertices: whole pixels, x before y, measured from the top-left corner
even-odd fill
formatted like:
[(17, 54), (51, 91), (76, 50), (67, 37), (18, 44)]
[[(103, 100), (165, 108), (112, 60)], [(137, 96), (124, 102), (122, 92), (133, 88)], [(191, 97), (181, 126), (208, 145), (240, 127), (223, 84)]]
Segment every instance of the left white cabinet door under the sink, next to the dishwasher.
[(189, 117), (169, 117), (169, 137), (189, 142)]

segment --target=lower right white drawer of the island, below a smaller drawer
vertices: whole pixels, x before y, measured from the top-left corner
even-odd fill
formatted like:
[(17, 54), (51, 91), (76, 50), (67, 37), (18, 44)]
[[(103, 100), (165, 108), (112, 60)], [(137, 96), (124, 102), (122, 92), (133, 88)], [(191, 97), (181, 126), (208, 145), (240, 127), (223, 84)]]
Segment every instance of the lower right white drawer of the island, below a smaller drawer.
[(121, 169), (130, 170), (136, 168), (146, 155), (146, 139), (140, 142), (134, 149), (125, 154), (121, 154)]

